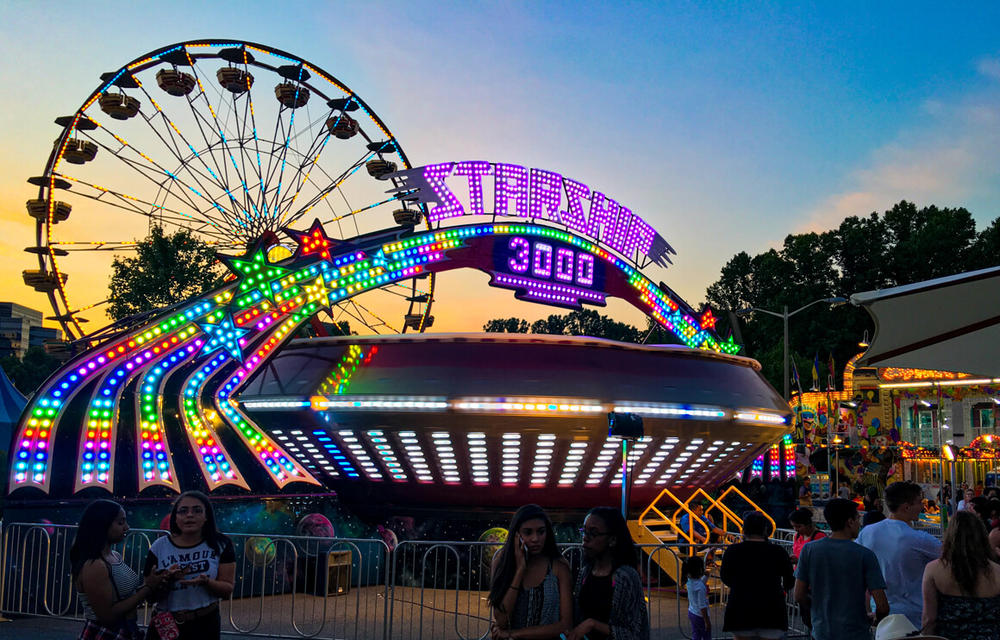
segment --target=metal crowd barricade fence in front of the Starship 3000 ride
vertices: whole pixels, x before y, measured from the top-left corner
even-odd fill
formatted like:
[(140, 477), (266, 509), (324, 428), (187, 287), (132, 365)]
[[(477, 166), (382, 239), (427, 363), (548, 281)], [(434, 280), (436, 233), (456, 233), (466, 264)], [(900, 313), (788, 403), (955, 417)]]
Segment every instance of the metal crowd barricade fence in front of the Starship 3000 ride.
[[(75, 533), (67, 525), (4, 523), (0, 612), (82, 618), (69, 561)], [(165, 533), (133, 529), (117, 550), (141, 573), (150, 545)], [(222, 603), (223, 631), (350, 640), (489, 636), (487, 596), (497, 543), (404, 541), (390, 550), (375, 539), (228, 535), (236, 577), (233, 595)], [(725, 546), (698, 547), (715, 555), (709, 571), (711, 615), (713, 637), (720, 638), (728, 588), (718, 579), (718, 565)], [(667, 544), (640, 549), (652, 638), (690, 638), (682, 562), (691, 550)], [(576, 575), (582, 548), (563, 544), (560, 551)], [(140, 622), (148, 616), (148, 609), (140, 610)], [(802, 633), (790, 593), (789, 622), (790, 637)]]

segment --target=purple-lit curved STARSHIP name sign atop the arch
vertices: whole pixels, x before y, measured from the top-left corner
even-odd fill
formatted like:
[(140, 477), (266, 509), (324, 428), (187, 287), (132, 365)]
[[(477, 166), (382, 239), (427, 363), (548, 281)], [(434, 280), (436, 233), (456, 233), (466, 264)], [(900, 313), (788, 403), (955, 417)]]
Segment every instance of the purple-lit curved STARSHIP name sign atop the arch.
[[(429, 205), (428, 219), (440, 223), (460, 216), (494, 215), (558, 224), (568, 231), (602, 242), (622, 256), (645, 257), (665, 266), (675, 253), (652, 226), (605, 194), (553, 171), (481, 160), (443, 162), (389, 174), (401, 186), (392, 189), (404, 200)], [(486, 178), (492, 177), (492, 199)], [(463, 203), (453, 185), (467, 189)], [(492, 211), (487, 211), (487, 203)], [(585, 204), (586, 203), (586, 204)]]

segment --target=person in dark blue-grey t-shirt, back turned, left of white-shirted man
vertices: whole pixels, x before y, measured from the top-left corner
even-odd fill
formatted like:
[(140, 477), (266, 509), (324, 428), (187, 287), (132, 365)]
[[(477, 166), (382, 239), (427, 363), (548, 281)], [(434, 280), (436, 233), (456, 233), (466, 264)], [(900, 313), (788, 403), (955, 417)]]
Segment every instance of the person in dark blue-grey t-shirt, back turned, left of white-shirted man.
[[(854, 542), (861, 529), (858, 505), (834, 498), (823, 509), (833, 533), (802, 547), (795, 570), (795, 600), (808, 603), (814, 640), (870, 640), (871, 626), (889, 614), (885, 578), (870, 549)], [(865, 592), (875, 600), (869, 617)]]

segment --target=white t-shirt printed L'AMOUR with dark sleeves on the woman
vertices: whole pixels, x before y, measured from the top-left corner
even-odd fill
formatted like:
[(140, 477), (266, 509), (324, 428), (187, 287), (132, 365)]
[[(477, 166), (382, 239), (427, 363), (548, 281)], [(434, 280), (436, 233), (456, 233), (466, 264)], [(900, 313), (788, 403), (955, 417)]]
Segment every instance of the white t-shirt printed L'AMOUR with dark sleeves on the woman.
[(225, 537), (220, 542), (222, 551), (216, 551), (205, 541), (193, 547), (178, 547), (170, 541), (170, 536), (158, 538), (150, 545), (144, 573), (169, 569), (175, 564), (184, 570), (184, 575), (173, 583), (167, 597), (157, 603), (157, 608), (166, 611), (189, 611), (206, 607), (219, 599), (202, 585), (180, 584), (180, 582), (192, 580), (202, 574), (215, 580), (219, 577), (219, 564), (236, 562), (233, 544)]

